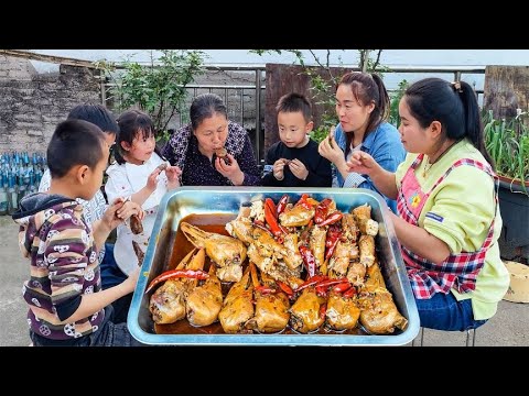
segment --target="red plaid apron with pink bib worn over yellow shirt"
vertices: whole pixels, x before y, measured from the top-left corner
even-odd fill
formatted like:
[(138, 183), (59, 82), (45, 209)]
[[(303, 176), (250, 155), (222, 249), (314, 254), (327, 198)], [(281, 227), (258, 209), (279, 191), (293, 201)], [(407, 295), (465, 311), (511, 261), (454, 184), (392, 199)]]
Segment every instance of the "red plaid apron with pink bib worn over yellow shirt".
[[(492, 167), (484, 165), (477, 161), (463, 158), (455, 162), (441, 176), (430, 191), (423, 193), (419, 182), (417, 180), (414, 170), (422, 162), (423, 154), (420, 154), (402, 178), (399, 197), (397, 200), (397, 210), (402, 219), (410, 224), (417, 226), (422, 208), (428, 200), (430, 194), (438, 187), (449, 174), (458, 166), (469, 165), (490, 175), (497, 186), (497, 176)], [(496, 210), (498, 204), (498, 195), (495, 189)], [(496, 218), (496, 216), (495, 216)], [(451, 254), (446, 260), (438, 265), (408, 250), (401, 245), (402, 257), (406, 263), (408, 278), (411, 282), (411, 288), (415, 298), (428, 299), (435, 293), (447, 294), (452, 287), (460, 293), (472, 292), (476, 288), (476, 277), (485, 263), (485, 255), (494, 234), (494, 219), (488, 229), (487, 238), (482, 248), (476, 252), (461, 252), (460, 254)]]

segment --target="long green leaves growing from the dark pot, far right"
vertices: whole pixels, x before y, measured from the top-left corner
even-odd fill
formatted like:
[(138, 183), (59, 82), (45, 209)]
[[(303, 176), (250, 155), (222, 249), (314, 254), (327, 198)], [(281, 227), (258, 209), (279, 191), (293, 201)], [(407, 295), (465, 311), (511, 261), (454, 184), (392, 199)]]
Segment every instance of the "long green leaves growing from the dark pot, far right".
[[(518, 111), (511, 120), (496, 120), (489, 110), (484, 117), (485, 146), (500, 176), (520, 182), (529, 195), (525, 182), (529, 182), (529, 129), (525, 120), (527, 112)], [(523, 183), (522, 183), (523, 182)]]

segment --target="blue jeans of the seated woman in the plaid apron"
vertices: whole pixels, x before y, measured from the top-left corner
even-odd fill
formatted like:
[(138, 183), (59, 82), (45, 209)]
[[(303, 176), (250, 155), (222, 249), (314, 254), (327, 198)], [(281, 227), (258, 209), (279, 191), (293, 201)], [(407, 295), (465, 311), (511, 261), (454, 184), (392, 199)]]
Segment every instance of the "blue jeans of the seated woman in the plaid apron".
[(436, 293), (430, 299), (417, 299), (421, 327), (445, 331), (477, 329), (488, 319), (474, 320), (471, 299), (457, 301), (452, 293)]

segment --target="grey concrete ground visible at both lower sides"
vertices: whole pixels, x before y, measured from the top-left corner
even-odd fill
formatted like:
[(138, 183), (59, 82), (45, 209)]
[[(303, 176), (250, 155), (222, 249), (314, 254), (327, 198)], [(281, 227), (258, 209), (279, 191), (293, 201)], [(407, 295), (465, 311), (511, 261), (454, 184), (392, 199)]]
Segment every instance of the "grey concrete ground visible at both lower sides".
[[(22, 284), (29, 267), (17, 244), (18, 227), (10, 217), (0, 217), (0, 346), (30, 343)], [(466, 333), (427, 329), (424, 345), (464, 346)], [(529, 304), (501, 301), (498, 314), (477, 330), (478, 346), (529, 346)]]

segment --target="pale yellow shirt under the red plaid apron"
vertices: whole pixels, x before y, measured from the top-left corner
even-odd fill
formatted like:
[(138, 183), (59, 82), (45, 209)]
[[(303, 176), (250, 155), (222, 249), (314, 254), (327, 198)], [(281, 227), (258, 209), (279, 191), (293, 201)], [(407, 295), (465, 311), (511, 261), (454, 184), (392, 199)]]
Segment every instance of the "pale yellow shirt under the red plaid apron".
[[(408, 154), (396, 172), (397, 187), (418, 154)], [(455, 144), (439, 162), (431, 165), (424, 173), (428, 164), (425, 155), (415, 169), (415, 177), (424, 193), (431, 190), (435, 182), (457, 160), (471, 158), (486, 164), (479, 153), (468, 140)], [(477, 275), (476, 289), (460, 294), (452, 288), (457, 300), (472, 298), (474, 319), (492, 318), (497, 310), (509, 287), (509, 273), (499, 256), (498, 238), (501, 232), (501, 216), (499, 206), (494, 204), (494, 182), (485, 172), (474, 166), (460, 166), (431, 193), (419, 217), (418, 226), (425, 229), (449, 245), (452, 254), (462, 251), (475, 252), (484, 243), (488, 228), (494, 223), (493, 243), (489, 246), (485, 264)], [(434, 216), (425, 217), (427, 213)]]

